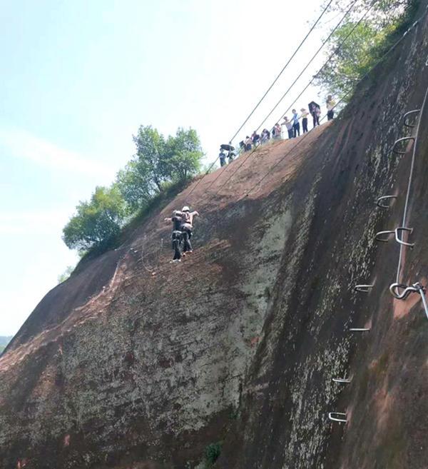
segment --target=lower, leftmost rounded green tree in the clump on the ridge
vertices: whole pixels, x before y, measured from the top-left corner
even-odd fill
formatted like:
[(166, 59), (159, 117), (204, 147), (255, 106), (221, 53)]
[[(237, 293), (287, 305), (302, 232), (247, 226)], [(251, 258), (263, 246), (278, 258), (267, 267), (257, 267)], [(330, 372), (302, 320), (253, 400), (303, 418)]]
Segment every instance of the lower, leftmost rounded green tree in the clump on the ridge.
[(91, 201), (76, 207), (76, 214), (63, 228), (63, 241), (78, 251), (107, 248), (120, 233), (125, 215), (125, 201), (118, 186), (97, 187)]

